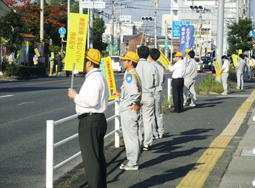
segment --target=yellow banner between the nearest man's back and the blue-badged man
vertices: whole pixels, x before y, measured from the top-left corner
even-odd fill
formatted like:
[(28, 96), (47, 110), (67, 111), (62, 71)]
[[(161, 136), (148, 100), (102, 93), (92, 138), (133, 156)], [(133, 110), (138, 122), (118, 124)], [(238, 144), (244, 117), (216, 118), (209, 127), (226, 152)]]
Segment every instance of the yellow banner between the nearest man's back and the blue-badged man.
[(116, 92), (115, 78), (112, 70), (112, 59), (111, 57), (105, 57), (101, 59), (99, 67), (102, 75), (105, 77), (108, 85), (109, 97), (108, 100), (116, 99), (117, 96), (112, 96), (112, 92)]

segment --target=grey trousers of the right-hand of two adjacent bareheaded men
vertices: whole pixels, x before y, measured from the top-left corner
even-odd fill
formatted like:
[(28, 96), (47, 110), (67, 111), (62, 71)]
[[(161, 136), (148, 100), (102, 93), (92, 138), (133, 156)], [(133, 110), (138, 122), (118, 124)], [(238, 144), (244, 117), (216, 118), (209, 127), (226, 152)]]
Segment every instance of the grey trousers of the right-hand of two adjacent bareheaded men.
[(161, 92), (154, 95), (155, 100), (155, 123), (153, 124), (153, 135), (163, 136), (164, 134), (164, 122), (161, 106)]

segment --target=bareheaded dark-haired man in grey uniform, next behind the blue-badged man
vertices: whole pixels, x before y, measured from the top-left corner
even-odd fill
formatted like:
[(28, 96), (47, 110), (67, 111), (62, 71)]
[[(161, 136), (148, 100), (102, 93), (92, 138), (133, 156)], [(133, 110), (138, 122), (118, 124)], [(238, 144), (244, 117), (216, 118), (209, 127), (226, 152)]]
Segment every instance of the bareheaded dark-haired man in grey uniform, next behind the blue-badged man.
[[(149, 56), (149, 48), (141, 46), (138, 48), (140, 61), (136, 67), (136, 72), (142, 81), (142, 101), (141, 101), (141, 118), (139, 119), (139, 139), (143, 144), (143, 150), (148, 151), (152, 145), (153, 133), (152, 127), (155, 123), (154, 115), (154, 93), (158, 86), (158, 70), (146, 59)], [(142, 126), (143, 125), (143, 126)], [(142, 137), (144, 133), (144, 139)], [(143, 141), (143, 143), (142, 143)]]

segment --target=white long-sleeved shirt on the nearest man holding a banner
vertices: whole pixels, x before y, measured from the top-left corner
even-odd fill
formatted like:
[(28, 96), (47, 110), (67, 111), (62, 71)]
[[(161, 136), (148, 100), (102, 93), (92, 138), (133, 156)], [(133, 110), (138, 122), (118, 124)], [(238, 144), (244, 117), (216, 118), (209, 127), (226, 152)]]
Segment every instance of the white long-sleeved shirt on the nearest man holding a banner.
[(94, 68), (86, 74), (79, 94), (74, 98), (76, 113), (103, 113), (107, 109), (108, 85), (99, 69)]

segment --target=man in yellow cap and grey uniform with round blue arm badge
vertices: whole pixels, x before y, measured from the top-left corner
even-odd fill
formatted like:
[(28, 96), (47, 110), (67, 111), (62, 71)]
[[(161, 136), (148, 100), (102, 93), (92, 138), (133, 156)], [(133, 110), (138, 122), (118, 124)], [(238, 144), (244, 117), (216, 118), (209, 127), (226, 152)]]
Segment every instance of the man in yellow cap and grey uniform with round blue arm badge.
[(120, 166), (121, 170), (138, 170), (140, 157), (140, 142), (138, 135), (139, 106), (141, 99), (141, 80), (135, 68), (139, 57), (135, 52), (128, 51), (124, 57), (124, 74), (121, 93), (113, 92), (113, 96), (120, 98), (120, 119), (128, 163)]

